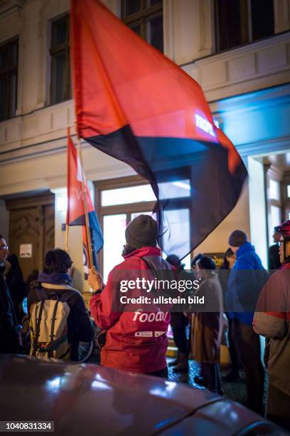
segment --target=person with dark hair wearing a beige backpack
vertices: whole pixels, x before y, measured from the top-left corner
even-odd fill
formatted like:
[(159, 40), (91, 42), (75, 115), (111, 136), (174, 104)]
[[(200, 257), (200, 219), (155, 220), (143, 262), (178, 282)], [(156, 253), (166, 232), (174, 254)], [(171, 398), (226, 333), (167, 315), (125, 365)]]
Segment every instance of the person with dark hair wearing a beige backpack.
[(68, 275), (72, 264), (66, 251), (49, 250), (38, 281), (31, 283), (31, 355), (38, 358), (79, 360), (80, 343), (91, 343), (94, 338), (82, 295)]

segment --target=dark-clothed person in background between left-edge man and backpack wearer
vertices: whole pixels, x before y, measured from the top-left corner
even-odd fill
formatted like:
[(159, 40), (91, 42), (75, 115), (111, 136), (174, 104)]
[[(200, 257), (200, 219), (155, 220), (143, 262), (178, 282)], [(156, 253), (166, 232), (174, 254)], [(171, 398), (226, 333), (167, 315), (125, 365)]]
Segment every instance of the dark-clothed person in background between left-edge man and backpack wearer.
[(14, 311), (16, 313), (16, 318), (18, 323), (21, 323), (22, 319), (22, 309), (21, 303), (25, 295), (25, 284), (23, 281), (23, 274), (21, 267), (18, 262), (18, 257), (16, 254), (10, 254), (6, 259), (6, 284), (8, 286), (11, 300), (14, 305)]

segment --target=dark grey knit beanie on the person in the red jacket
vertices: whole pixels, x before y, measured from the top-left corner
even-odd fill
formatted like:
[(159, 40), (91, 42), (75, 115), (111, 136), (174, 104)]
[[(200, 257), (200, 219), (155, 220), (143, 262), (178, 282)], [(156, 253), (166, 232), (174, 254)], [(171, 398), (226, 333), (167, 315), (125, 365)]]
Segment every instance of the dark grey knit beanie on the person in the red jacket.
[(158, 236), (157, 222), (144, 214), (132, 219), (125, 230), (127, 244), (136, 249), (142, 246), (156, 246)]

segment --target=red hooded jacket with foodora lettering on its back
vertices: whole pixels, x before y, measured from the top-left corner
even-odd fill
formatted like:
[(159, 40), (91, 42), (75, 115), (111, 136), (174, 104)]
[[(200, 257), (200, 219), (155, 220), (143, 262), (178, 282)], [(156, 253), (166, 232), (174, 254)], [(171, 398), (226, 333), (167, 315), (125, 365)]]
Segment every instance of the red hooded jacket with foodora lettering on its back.
[[(136, 279), (140, 270), (149, 269), (142, 257), (154, 264), (155, 269), (171, 269), (171, 265), (161, 258), (158, 248), (146, 246), (136, 249), (124, 256), (122, 264), (112, 269), (102, 294), (90, 299), (90, 310), (97, 326), (107, 331), (101, 364), (137, 373), (152, 373), (166, 367), (169, 311), (152, 305), (142, 305), (141, 312), (116, 311), (115, 306), (121, 294), (118, 286), (120, 279)], [(149, 295), (139, 291), (141, 294)], [(127, 292), (127, 296), (134, 296), (134, 291)]]

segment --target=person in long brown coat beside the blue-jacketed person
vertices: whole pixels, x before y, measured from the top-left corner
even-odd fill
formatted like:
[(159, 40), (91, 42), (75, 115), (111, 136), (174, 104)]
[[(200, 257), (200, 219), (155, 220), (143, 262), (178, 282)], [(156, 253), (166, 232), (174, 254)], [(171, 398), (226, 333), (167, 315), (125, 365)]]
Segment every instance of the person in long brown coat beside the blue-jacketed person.
[(223, 329), (222, 288), (218, 275), (215, 274), (216, 266), (212, 259), (203, 256), (196, 266), (198, 275), (203, 279), (198, 294), (205, 295), (205, 299), (210, 299), (210, 306), (216, 308), (216, 311), (193, 313), (192, 357), (200, 363), (203, 383), (199, 384), (222, 395), (219, 367)]

